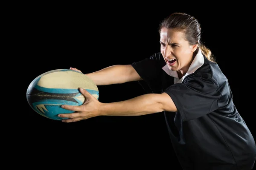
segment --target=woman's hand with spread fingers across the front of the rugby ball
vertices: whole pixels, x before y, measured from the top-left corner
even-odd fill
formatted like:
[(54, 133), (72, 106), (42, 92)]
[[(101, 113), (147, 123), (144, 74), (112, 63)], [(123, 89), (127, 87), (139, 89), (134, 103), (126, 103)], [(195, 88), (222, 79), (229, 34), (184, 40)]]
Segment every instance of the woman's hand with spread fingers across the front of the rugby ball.
[(77, 122), (80, 120), (100, 116), (99, 108), (102, 105), (98, 99), (92, 96), (88, 91), (83, 88), (79, 88), (79, 91), (85, 97), (85, 101), (80, 106), (72, 106), (72, 105), (61, 105), (61, 108), (75, 111), (74, 113), (64, 113), (59, 114), (58, 116), (61, 118), (68, 118), (63, 119), (62, 122)]

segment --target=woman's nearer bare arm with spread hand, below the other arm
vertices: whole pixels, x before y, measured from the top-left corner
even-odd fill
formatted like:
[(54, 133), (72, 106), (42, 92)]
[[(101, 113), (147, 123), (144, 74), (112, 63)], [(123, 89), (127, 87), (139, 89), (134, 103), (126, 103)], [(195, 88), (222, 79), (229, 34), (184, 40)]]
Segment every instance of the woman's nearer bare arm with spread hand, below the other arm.
[(63, 122), (77, 122), (95, 116), (139, 116), (162, 111), (177, 111), (171, 97), (166, 94), (144, 94), (121, 102), (102, 103), (88, 91), (80, 89), (86, 98), (83, 105), (62, 105), (62, 108), (75, 113), (59, 114), (59, 117), (68, 118)]

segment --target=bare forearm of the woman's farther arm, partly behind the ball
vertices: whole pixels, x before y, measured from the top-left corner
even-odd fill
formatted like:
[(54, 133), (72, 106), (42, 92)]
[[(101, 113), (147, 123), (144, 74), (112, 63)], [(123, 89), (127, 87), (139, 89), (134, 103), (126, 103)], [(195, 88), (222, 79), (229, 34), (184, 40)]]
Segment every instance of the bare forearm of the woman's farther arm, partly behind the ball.
[(85, 75), (96, 85), (111, 85), (139, 80), (139, 75), (134, 71), (131, 65), (113, 65)]

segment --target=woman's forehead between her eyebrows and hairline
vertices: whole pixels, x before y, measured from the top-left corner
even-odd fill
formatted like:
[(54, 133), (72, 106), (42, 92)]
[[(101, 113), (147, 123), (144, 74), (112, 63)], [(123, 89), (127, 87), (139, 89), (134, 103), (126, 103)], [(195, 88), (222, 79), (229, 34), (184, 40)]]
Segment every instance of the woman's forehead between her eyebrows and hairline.
[(184, 41), (184, 33), (174, 29), (162, 28), (160, 38), (163, 41)]

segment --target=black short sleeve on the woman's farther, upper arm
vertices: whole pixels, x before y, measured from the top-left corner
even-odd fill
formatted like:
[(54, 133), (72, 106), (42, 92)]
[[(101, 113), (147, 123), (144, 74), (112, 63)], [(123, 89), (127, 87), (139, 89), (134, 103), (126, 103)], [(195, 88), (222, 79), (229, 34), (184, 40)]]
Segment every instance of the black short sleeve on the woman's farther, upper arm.
[[(161, 68), (159, 63), (159, 54), (155, 53), (151, 57), (131, 64), (151, 91), (156, 93), (158, 93), (161, 88)], [(145, 84), (141, 85), (145, 86)]]

